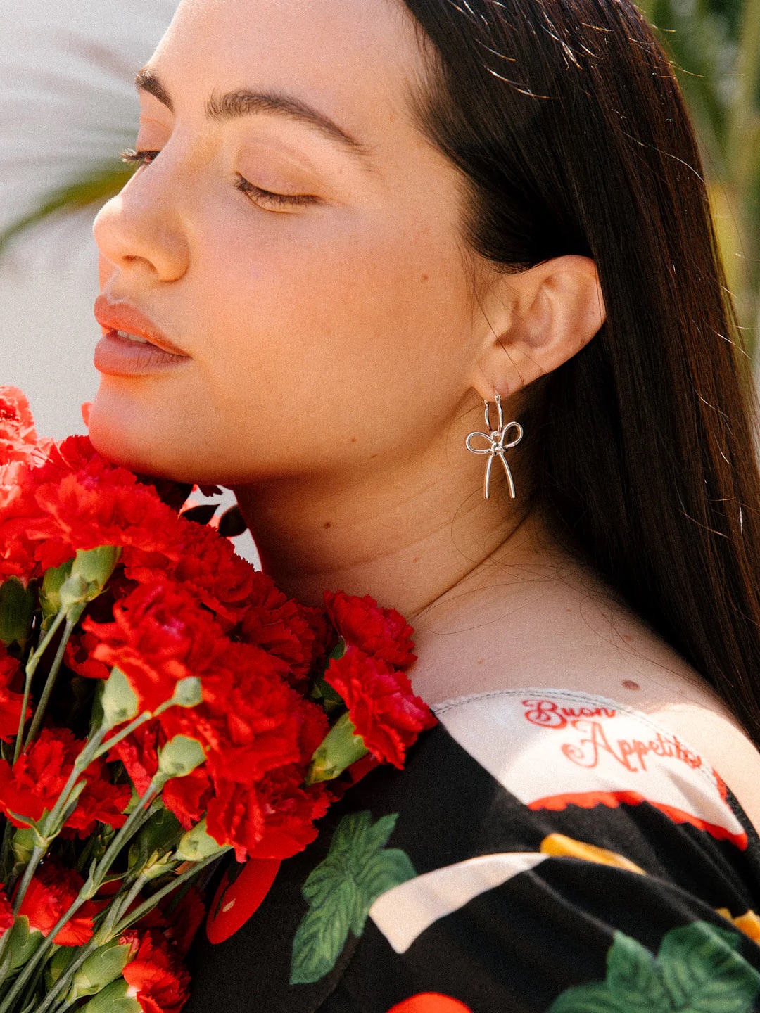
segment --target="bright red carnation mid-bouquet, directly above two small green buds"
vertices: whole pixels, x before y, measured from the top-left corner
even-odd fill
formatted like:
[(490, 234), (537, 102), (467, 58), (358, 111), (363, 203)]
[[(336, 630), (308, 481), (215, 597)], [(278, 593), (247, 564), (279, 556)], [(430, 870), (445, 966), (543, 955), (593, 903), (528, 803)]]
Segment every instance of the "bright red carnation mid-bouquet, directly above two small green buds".
[(166, 582), (138, 587), (115, 606), (112, 623), (88, 618), (83, 627), (99, 641), (92, 657), (119, 666), (142, 710), (169, 700), (180, 679), (213, 671), (226, 646), (211, 614)]

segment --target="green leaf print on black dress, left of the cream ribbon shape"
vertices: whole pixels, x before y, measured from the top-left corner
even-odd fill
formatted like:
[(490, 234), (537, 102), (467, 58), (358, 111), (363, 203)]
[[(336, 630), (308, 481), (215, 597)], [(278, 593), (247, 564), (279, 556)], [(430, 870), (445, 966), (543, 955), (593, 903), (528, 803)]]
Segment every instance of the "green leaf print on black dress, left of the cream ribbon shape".
[(303, 884), (309, 910), (293, 940), (291, 985), (332, 970), (349, 932), (362, 935), (381, 893), (416, 875), (405, 852), (385, 847), (397, 819), (394, 812), (373, 824), (370, 812), (356, 812), (338, 824), (327, 857)]

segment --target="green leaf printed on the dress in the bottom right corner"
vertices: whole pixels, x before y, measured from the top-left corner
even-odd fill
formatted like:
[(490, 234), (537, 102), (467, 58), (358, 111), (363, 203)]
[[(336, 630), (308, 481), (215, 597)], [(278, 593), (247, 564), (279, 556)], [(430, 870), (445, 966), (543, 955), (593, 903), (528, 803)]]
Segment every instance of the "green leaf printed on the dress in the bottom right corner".
[(749, 1013), (760, 992), (760, 975), (738, 952), (741, 936), (707, 922), (671, 929), (658, 963), (673, 1009), (690, 1013)]

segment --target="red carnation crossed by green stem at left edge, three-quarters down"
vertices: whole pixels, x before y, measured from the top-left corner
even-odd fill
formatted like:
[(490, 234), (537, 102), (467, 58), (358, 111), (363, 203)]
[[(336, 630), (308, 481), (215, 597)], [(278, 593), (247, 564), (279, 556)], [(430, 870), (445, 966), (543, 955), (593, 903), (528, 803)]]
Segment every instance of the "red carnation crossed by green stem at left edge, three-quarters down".
[[(0, 809), (14, 827), (27, 826), (18, 816), (41, 820), (45, 809), (53, 808), (83, 746), (68, 728), (43, 728), (12, 768), (7, 760), (0, 760)], [(90, 764), (85, 779), (87, 785), (65, 826), (79, 837), (91, 834), (98, 821), (123, 826), (129, 787), (109, 782), (102, 759)]]

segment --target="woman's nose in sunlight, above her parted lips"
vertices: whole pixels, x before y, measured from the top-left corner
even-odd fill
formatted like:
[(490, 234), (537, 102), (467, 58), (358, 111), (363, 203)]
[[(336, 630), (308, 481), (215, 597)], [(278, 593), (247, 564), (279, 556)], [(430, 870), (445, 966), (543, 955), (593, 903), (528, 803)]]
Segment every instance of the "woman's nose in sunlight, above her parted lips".
[(95, 218), (92, 232), (101, 256), (145, 282), (176, 282), (187, 270), (189, 248), (176, 187), (160, 159), (138, 171)]

